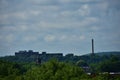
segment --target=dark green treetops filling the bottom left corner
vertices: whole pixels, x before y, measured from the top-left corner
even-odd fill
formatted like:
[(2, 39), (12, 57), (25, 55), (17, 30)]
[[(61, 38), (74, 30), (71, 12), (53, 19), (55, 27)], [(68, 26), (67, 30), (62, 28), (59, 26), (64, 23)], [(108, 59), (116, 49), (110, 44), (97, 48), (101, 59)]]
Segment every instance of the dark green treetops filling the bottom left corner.
[(24, 69), (21, 65), (0, 60), (0, 80), (15, 80), (23, 72)]

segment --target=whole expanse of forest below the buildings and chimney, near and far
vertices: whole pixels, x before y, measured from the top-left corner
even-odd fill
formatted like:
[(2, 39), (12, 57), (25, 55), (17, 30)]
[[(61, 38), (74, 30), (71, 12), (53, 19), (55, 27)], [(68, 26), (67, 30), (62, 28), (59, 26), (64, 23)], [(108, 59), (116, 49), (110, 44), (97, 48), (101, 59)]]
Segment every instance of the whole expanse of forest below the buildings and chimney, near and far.
[(120, 80), (119, 66), (120, 54), (64, 56), (39, 64), (32, 56), (6, 56), (0, 58), (0, 80)]

